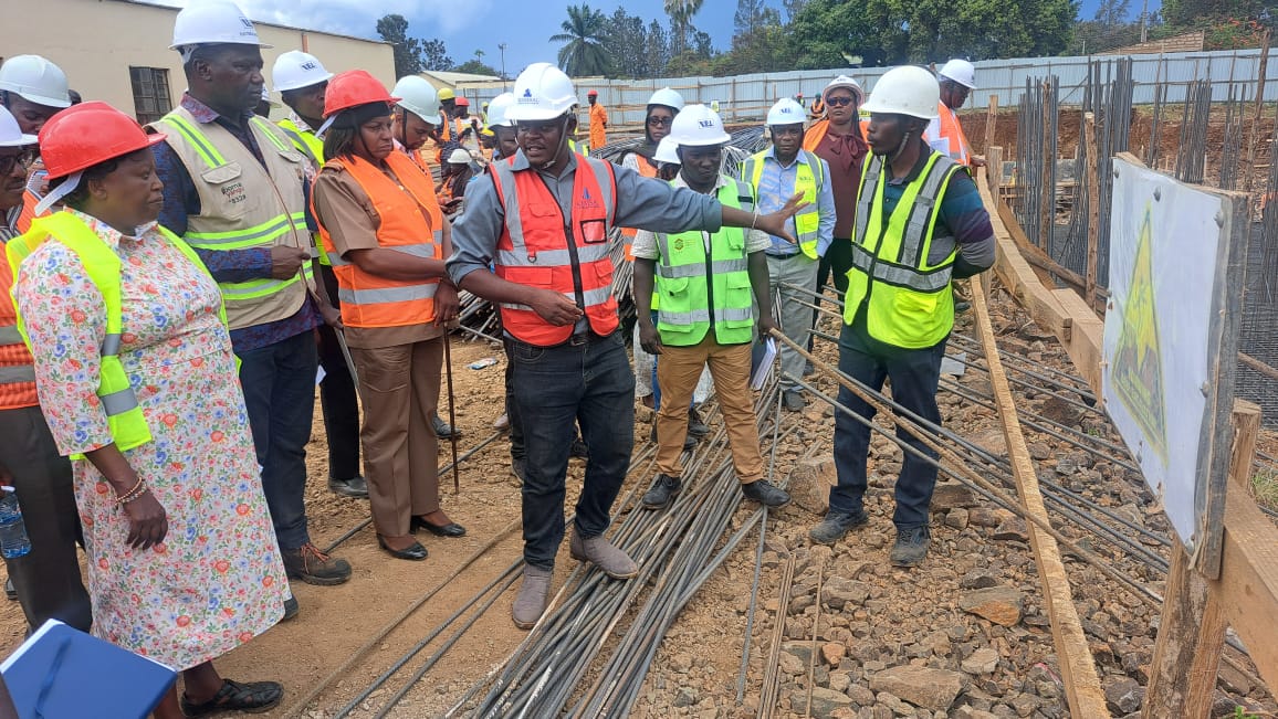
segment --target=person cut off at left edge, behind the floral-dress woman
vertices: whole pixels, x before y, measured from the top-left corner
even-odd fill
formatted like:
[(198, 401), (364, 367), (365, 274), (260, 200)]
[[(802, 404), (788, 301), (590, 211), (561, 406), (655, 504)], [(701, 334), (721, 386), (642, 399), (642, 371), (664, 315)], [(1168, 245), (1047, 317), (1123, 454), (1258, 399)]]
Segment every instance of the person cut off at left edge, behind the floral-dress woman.
[(4, 562), (29, 631), (58, 619), (87, 632), (92, 608), (75, 549), (82, 538), (72, 465), (40, 410), (35, 360), (18, 332), (4, 257), (5, 244), (20, 234), (14, 225), (35, 157), (36, 135), (0, 107), (0, 485), (14, 489), (31, 541), (26, 556)]

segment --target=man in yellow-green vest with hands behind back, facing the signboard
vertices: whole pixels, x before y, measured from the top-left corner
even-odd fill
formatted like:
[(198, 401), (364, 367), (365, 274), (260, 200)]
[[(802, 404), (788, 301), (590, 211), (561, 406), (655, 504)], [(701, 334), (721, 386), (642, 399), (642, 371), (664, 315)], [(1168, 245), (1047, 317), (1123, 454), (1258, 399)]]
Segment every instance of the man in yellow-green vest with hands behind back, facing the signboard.
[[(883, 74), (865, 109), (869, 143), (856, 201), (852, 269), (838, 340), (838, 369), (872, 390), (892, 381), (892, 400), (941, 424), (937, 382), (946, 340), (953, 328), (951, 281), (994, 263), (994, 232), (971, 176), (928, 147), (923, 129), (937, 115), (939, 88), (923, 68)], [(861, 418), (874, 409), (847, 388), (838, 402)], [(927, 446), (898, 432), (924, 456)], [(813, 541), (833, 544), (869, 521), (865, 513), (870, 429), (840, 411), (835, 415), (835, 469), (829, 512), (812, 529)], [(912, 567), (928, 554), (928, 508), (937, 467), (906, 453), (896, 480), (896, 544), (889, 561)]]

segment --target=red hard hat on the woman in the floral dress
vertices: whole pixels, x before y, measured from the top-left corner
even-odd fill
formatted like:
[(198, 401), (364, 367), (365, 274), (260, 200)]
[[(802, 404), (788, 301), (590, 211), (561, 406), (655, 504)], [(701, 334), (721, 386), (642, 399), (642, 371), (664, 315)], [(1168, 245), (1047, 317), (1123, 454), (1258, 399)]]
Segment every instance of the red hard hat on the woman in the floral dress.
[(40, 157), (49, 179), (65, 178), (164, 142), (106, 102), (89, 101), (59, 111), (40, 129)]

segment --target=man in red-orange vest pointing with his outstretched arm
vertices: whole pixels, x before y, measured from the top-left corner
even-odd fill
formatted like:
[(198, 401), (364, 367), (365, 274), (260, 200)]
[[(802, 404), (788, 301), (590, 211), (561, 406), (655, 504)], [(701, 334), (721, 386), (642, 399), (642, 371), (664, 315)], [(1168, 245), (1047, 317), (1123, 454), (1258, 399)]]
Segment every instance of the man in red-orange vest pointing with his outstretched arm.
[[(546, 609), (555, 554), (564, 538), (564, 494), (574, 419), (589, 448), (576, 506), (571, 554), (615, 579), (638, 567), (603, 533), (630, 465), (634, 374), (617, 332), (608, 232), (615, 225), (662, 232), (718, 231), (722, 225), (786, 234), (800, 203), (751, 215), (671, 188), (624, 167), (571, 152), (573, 80), (535, 63), (515, 80), (520, 151), (475, 183), (454, 226), (447, 267), (454, 282), (501, 307), (514, 358), (514, 404), (524, 429), (524, 582), (515, 624), (532, 627)], [(495, 272), (489, 271), (489, 262)]]

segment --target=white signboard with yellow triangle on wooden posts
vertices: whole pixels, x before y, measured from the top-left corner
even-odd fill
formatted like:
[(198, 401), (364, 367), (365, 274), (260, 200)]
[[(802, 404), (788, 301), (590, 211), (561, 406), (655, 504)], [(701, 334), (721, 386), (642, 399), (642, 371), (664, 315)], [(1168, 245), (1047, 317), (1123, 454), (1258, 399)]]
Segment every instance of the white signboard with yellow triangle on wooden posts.
[(1121, 160), (1114, 175), (1105, 410), (1192, 552), (1213, 464), (1226, 201)]

